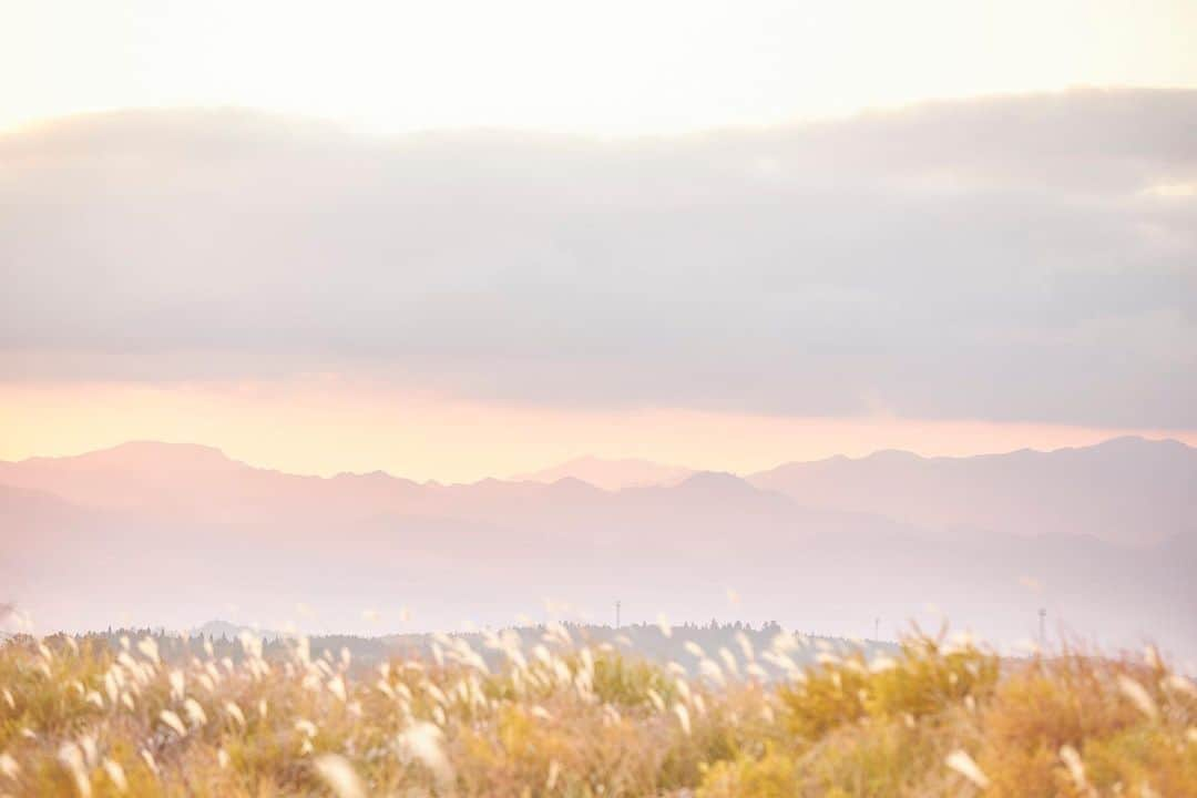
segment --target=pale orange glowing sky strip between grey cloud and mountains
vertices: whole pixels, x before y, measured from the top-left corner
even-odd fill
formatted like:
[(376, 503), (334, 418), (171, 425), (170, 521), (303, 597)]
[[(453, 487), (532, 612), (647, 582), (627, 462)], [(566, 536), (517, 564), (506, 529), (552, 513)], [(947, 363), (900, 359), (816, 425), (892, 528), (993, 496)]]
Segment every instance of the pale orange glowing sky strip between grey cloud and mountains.
[(14, 384), (0, 388), (0, 419), (5, 461), (160, 440), (214, 446), (294, 474), (382, 470), (439, 482), (504, 479), (584, 455), (749, 474), (885, 449), (970, 456), (1084, 446), (1126, 434), (1197, 445), (1192, 430), (505, 407), (335, 377), (169, 388)]

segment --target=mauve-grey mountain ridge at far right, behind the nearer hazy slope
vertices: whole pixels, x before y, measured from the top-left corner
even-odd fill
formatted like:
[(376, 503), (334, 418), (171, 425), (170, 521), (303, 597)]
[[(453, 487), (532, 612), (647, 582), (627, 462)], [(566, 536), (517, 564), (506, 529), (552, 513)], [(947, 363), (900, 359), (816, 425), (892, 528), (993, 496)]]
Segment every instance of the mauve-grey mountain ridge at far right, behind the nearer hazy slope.
[(1177, 440), (1126, 437), (974, 457), (882, 451), (746, 479), (806, 506), (873, 512), (943, 534), (1092, 535), (1136, 546), (1197, 530), (1197, 449)]

